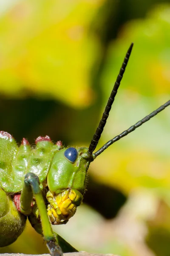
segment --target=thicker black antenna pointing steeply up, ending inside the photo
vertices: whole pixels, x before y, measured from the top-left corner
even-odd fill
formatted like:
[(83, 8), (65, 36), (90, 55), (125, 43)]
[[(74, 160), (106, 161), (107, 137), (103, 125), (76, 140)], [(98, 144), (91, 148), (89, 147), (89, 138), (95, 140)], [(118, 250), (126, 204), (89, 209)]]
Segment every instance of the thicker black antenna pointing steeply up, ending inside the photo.
[(89, 154), (92, 154), (93, 151), (95, 150), (96, 145), (97, 145), (97, 143), (98, 143), (98, 141), (100, 139), (100, 136), (102, 134), (102, 131), (103, 131), (104, 127), (105, 127), (106, 121), (107, 121), (108, 116), (109, 116), (109, 112), (111, 110), (111, 106), (112, 106), (112, 104), (114, 102), (117, 90), (119, 88), (120, 82), (121, 82), (123, 74), (125, 72), (125, 68), (127, 66), (127, 62), (129, 60), (130, 53), (132, 51), (132, 47), (133, 47), (133, 43), (130, 44), (130, 47), (129, 47), (127, 53), (126, 53), (125, 59), (124, 59), (123, 64), (122, 64), (122, 67), (121, 67), (121, 69), (119, 71), (119, 75), (117, 76), (116, 82), (115, 82), (113, 90), (111, 92), (111, 96), (108, 99), (108, 103), (107, 103), (107, 105), (105, 107), (105, 111), (104, 111), (104, 113), (102, 115), (102, 119), (100, 120), (99, 126), (97, 127), (96, 132), (95, 132), (95, 134), (93, 136), (93, 139), (91, 140), (91, 143), (89, 145), (89, 148), (88, 148), (88, 153)]

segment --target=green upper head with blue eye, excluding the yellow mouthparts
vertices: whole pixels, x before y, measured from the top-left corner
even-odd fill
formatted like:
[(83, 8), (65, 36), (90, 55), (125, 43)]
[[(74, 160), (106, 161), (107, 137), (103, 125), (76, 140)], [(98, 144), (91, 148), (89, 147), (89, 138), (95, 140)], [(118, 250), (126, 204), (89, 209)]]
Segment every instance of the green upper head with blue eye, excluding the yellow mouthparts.
[(88, 148), (63, 148), (54, 155), (47, 183), (51, 193), (58, 194), (63, 189), (74, 188), (84, 193), (85, 177), (89, 160), (85, 158)]

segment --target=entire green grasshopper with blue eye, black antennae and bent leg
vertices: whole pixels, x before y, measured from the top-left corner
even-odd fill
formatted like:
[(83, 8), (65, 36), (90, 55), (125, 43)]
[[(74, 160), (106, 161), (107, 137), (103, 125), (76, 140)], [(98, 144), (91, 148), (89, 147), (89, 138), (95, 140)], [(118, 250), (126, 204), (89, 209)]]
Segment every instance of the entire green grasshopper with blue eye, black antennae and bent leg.
[(53, 232), (51, 224), (66, 224), (75, 214), (83, 200), (90, 163), (108, 146), (170, 105), (169, 100), (93, 153), (105, 127), (132, 47), (133, 43), (127, 51), (89, 148), (65, 148), (61, 141), (54, 144), (48, 136), (38, 137), (35, 140), (36, 147), (31, 147), (23, 138), (18, 147), (10, 134), (0, 131), (0, 247), (17, 240), (28, 216), (32, 227), (44, 237), (52, 256), (77, 251)]

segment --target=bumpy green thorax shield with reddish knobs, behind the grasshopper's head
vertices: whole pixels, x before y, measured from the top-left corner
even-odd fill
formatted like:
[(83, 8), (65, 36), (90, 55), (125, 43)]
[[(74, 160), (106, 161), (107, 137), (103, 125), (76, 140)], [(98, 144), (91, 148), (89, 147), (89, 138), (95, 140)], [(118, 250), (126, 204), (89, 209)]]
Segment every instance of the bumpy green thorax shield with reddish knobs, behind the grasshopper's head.
[(18, 147), (7, 132), (0, 132), (0, 186), (6, 192), (20, 192), (27, 172), (36, 174), (42, 183), (59, 146), (51, 141), (40, 140), (36, 148), (31, 148), (23, 139)]

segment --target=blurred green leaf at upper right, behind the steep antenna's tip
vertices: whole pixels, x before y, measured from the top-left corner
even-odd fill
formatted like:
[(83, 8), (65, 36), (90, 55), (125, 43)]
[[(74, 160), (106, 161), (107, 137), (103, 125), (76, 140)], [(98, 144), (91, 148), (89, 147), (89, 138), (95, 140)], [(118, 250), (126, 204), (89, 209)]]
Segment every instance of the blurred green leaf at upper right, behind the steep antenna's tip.
[(122, 56), (133, 41), (134, 47), (122, 87), (144, 96), (170, 93), (169, 31), (169, 5), (158, 5), (145, 19), (128, 22), (108, 49), (103, 83), (108, 85), (109, 91), (122, 63)]

